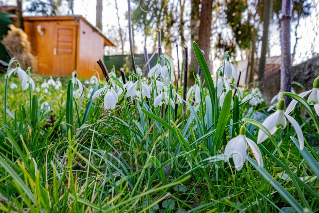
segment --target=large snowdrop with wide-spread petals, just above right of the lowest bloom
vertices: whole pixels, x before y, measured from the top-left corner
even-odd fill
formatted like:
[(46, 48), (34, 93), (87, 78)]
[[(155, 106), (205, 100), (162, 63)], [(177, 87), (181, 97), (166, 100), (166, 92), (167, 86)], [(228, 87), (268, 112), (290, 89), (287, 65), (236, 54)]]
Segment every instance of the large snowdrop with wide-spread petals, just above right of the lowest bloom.
[[(286, 118), (287, 118), (297, 133), (297, 137), (298, 137), (299, 144), (300, 144), (300, 149), (302, 150), (304, 147), (304, 139), (303, 139), (302, 130), (301, 130), (298, 122), (295, 119), (293, 119), (293, 117), (288, 115), (284, 111), (284, 108), (285, 108), (285, 101), (283, 99), (280, 99), (278, 101), (278, 107), (277, 107), (276, 112), (274, 112), (273, 114), (271, 114), (270, 116), (268, 116), (264, 120), (263, 126), (270, 132), (270, 134), (273, 134), (276, 132), (276, 130), (278, 128), (280, 128), (280, 129), (286, 128), (286, 126), (287, 126)], [(266, 133), (264, 133), (260, 129), (258, 132), (257, 143), (259, 144), (259, 143), (263, 142), (264, 140), (266, 140), (267, 138), (268, 138), (268, 136), (266, 135)]]

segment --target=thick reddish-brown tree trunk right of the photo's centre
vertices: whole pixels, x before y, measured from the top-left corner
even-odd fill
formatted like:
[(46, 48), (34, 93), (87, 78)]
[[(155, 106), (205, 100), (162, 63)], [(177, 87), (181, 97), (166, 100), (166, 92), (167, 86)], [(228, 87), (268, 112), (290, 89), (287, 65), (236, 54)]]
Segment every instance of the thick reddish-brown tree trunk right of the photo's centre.
[[(210, 53), (210, 39), (211, 39), (211, 12), (213, 9), (212, 0), (203, 0), (202, 1), (202, 11), (199, 24), (199, 35), (198, 35), (198, 46), (201, 50), (204, 51), (205, 60), (209, 65), (209, 53)], [(192, 45), (191, 45), (192, 46)]]

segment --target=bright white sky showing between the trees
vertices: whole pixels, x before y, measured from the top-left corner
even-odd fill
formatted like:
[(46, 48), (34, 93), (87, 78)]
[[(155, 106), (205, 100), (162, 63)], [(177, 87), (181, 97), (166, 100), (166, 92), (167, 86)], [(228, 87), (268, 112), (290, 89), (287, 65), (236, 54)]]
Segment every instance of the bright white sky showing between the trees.
[[(12, 4), (12, 5), (16, 4), (16, 0), (3, 0), (3, 1), (6, 2), (7, 4)], [(297, 37), (299, 39), (297, 43), (295, 60), (293, 62), (293, 65), (299, 64), (311, 58), (313, 55), (311, 51), (319, 52), (319, 38), (314, 39), (315, 37), (318, 37), (319, 0), (310, 0), (310, 1), (314, 5), (317, 5), (317, 7), (311, 8), (311, 15), (309, 17), (300, 19), (300, 23), (299, 23), (299, 27), (297, 31)], [(117, 0), (117, 4), (119, 9), (120, 24), (121, 24), (121, 27), (124, 28), (124, 26), (127, 26), (128, 24), (128, 21), (126, 19), (127, 0)], [(134, 4), (131, 3), (131, 6), (134, 7)], [(27, 7), (27, 4), (24, 4), (23, 7), (25, 9)], [(188, 10), (190, 11), (190, 4), (188, 4), (188, 1), (186, 0), (185, 11), (188, 11)], [(67, 13), (67, 10), (65, 9), (64, 12)], [(89, 22), (91, 22), (95, 26), (96, 0), (75, 0), (74, 14), (80, 14), (84, 16)], [(186, 17), (185, 19), (188, 19), (188, 17)], [(105, 34), (108, 33), (108, 29), (114, 26), (116, 27), (116, 29), (118, 29), (118, 20), (116, 16), (114, 0), (103, 1), (102, 23), (103, 23), (103, 32)], [(293, 52), (293, 47), (296, 41), (296, 36), (294, 31), (295, 25), (296, 23), (292, 23), (292, 32), (291, 32), (292, 52)], [(125, 32), (125, 33), (128, 33), (128, 32)], [(189, 30), (188, 29), (185, 30), (184, 34), (189, 35), (190, 34)], [(271, 24), (269, 36), (270, 36), (270, 47), (271, 47), (270, 56), (281, 55), (280, 40), (279, 40), (280, 32), (278, 30), (278, 26)], [(136, 32), (135, 44), (137, 46), (137, 53), (139, 54), (143, 53), (144, 36), (142, 33)], [(190, 45), (191, 45), (191, 42), (188, 41), (188, 46)], [(152, 41), (152, 38), (149, 38), (146, 43), (146, 48), (148, 50), (148, 53), (152, 52), (153, 46), (154, 46), (154, 43)], [(120, 47), (117, 47), (117, 48), (120, 48)], [(128, 41), (125, 42), (124, 50), (125, 50), (125, 53), (129, 53), (130, 46)], [(182, 49), (179, 48), (179, 54), (181, 54), (181, 52), (182, 52)], [(214, 52), (214, 50), (212, 50), (212, 52)], [(257, 53), (260, 54), (260, 49), (257, 50)], [(177, 63), (176, 49), (172, 50), (172, 57), (174, 59), (174, 65), (176, 66), (176, 63)], [(236, 61), (238, 60), (241, 60), (240, 54), (237, 54)], [(213, 61), (213, 70), (216, 70), (220, 65), (221, 65), (220, 60), (215, 59)]]

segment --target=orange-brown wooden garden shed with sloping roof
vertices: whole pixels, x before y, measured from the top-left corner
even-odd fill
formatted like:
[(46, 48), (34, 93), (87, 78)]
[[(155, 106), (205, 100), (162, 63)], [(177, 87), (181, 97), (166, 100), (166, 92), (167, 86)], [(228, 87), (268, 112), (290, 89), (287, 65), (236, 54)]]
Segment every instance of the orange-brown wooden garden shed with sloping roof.
[(115, 45), (85, 18), (29, 16), (23, 21), (38, 60), (38, 74), (70, 76), (77, 70), (80, 78), (90, 78), (97, 70), (102, 76), (97, 59), (103, 58), (104, 46)]

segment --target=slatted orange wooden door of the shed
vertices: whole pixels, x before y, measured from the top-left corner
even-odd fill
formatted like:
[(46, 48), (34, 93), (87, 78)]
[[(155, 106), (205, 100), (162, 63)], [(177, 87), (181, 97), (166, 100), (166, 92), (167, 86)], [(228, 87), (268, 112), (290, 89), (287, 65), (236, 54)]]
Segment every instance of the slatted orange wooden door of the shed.
[(72, 72), (76, 69), (76, 43), (76, 26), (57, 25), (56, 45), (53, 50), (54, 75), (70, 76)]

